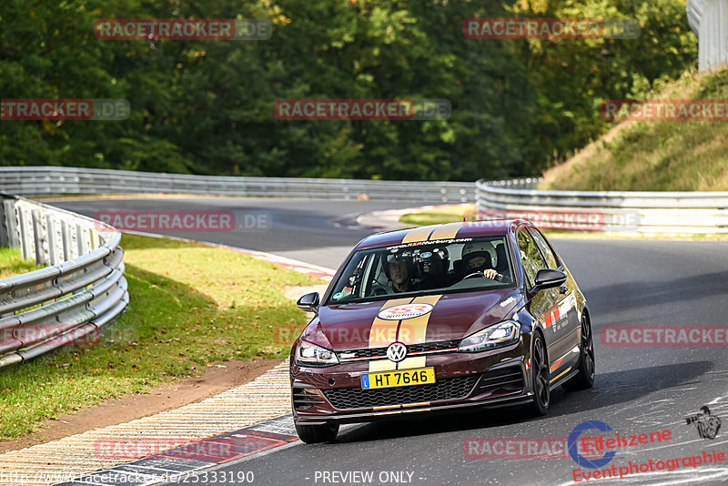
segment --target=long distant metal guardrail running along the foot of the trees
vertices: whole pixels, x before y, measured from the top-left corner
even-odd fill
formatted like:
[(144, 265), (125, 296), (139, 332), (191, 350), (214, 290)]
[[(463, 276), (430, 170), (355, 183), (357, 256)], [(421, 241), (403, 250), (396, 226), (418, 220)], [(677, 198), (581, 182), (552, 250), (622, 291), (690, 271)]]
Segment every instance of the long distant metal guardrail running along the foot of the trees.
[(472, 182), (188, 176), (79, 167), (0, 167), (0, 187), (25, 197), (166, 193), (453, 203), (475, 201)]

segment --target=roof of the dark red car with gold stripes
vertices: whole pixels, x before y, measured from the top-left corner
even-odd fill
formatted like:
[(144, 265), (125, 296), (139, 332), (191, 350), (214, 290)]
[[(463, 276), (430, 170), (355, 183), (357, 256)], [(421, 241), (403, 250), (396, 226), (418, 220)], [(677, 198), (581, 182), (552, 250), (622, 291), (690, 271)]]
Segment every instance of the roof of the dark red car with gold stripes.
[(441, 225), (420, 226), (377, 233), (359, 241), (356, 249), (390, 247), (403, 243), (435, 241), (451, 238), (474, 238), (505, 235), (520, 225), (531, 224), (523, 219), (495, 219), (491, 221), (464, 221)]

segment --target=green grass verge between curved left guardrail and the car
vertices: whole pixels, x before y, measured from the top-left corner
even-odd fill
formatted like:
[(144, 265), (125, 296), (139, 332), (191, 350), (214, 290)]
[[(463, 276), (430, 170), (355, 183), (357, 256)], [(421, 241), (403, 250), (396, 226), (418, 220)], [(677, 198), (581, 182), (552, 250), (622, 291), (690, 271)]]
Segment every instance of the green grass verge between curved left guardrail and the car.
[(94, 347), (0, 369), (0, 438), (229, 359), (280, 358), (278, 325), (306, 325), (285, 286), (322, 283), (225, 248), (125, 235), (130, 304)]

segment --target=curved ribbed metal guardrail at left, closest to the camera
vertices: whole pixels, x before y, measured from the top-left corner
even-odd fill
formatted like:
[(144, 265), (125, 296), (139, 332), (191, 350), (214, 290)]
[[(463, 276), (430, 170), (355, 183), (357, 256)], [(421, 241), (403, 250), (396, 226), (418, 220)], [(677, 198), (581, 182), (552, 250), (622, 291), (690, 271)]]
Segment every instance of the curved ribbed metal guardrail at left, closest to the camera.
[(99, 337), (129, 302), (115, 228), (2, 197), (0, 245), (52, 266), (0, 279), (0, 368)]

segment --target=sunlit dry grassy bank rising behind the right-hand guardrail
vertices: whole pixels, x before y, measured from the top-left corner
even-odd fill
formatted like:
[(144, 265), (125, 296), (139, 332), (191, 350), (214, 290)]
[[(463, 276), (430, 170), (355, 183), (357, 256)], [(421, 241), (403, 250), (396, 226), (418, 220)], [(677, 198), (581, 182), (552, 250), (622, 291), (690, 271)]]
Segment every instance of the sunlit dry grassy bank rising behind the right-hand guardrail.
[[(686, 73), (652, 98), (728, 99), (728, 70)], [(543, 189), (728, 190), (728, 122), (637, 121), (615, 127), (544, 175)]]

